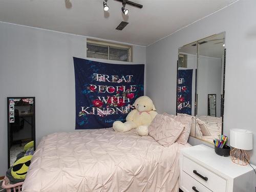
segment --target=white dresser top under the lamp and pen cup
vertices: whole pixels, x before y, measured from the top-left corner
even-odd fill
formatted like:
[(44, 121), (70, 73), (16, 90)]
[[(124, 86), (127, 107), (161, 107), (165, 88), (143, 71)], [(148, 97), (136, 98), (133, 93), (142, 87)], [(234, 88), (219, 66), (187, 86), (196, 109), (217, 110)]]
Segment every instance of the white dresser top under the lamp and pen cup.
[[(183, 148), (181, 153), (204, 167), (215, 170), (217, 174), (223, 175), (223, 177), (236, 178), (247, 172), (253, 171), (250, 165), (242, 166), (233, 163), (230, 156), (219, 156), (215, 153), (214, 148), (204, 144)], [(256, 168), (255, 165), (252, 166)]]

